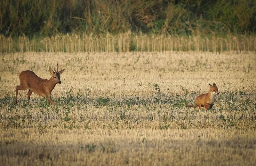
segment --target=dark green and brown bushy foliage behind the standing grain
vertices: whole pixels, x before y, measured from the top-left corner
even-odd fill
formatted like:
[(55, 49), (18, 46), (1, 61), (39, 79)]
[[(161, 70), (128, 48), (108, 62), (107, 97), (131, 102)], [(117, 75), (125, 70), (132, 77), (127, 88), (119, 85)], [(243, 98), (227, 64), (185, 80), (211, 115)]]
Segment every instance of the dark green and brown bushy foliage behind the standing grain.
[(255, 33), (254, 0), (2, 0), (0, 34)]

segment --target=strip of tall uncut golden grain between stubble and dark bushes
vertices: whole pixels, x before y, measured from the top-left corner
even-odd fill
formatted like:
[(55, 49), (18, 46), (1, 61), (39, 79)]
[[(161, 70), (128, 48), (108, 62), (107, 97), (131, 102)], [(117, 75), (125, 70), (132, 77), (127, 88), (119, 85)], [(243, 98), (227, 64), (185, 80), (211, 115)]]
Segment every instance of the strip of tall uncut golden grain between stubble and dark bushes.
[(127, 52), (127, 51), (256, 51), (256, 37), (231, 34), (227, 37), (201, 35), (178, 36), (170, 34), (133, 34), (131, 31), (103, 36), (92, 34), (66, 34), (29, 40), (20, 36), (17, 40), (0, 36), (0, 52)]

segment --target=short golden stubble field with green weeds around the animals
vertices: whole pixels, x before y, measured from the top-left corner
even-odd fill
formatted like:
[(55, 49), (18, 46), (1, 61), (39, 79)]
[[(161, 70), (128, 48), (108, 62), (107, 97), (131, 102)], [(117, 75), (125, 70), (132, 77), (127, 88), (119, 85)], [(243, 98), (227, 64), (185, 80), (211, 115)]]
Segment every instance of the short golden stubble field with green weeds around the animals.
[[(55, 106), (19, 91), (50, 79)], [(1, 54), (0, 165), (256, 165), (255, 52)], [(212, 109), (186, 108), (215, 83)]]

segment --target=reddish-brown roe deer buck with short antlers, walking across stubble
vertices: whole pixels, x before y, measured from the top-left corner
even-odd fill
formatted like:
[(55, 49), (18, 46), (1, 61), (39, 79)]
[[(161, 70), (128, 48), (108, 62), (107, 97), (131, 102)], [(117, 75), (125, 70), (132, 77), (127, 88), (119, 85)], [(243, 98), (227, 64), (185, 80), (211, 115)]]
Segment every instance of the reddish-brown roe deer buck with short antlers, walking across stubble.
[(54, 67), (54, 71), (52, 71), (52, 68), (49, 68), (49, 71), (52, 75), (52, 77), (48, 79), (41, 79), (38, 77), (34, 72), (26, 70), (20, 73), (20, 85), (16, 86), (16, 97), (15, 97), (15, 104), (17, 104), (17, 96), (18, 96), (18, 91), (19, 90), (28, 90), (28, 104), (29, 104), (29, 99), (30, 95), (32, 92), (35, 94), (38, 94), (43, 97), (47, 97), (47, 100), (55, 105), (55, 103), (51, 99), (51, 92), (54, 89), (55, 85), (61, 84), (60, 81), (60, 74), (64, 72), (65, 69), (59, 71), (59, 66), (57, 64), (57, 70)]

